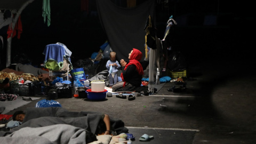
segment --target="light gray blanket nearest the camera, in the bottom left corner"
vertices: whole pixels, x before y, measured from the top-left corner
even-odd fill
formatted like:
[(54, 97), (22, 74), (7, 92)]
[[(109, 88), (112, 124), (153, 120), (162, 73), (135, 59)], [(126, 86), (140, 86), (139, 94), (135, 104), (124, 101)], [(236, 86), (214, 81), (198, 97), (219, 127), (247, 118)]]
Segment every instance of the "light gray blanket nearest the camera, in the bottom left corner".
[(23, 127), (1, 138), (3, 143), (88, 143), (86, 132), (79, 127), (57, 124), (43, 127)]

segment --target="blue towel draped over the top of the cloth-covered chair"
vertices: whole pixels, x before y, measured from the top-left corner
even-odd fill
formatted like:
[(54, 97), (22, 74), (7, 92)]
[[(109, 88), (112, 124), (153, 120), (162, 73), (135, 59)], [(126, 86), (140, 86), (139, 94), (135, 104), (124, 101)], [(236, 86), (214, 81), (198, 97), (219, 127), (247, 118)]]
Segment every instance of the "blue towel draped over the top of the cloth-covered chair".
[(46, 63), (47, 60), (54, 60), (58, 64), (63, 63), (65, 48), (59, 44), (49, 44), (45, 46), (43, 54), (45, 55), (44, 63)]

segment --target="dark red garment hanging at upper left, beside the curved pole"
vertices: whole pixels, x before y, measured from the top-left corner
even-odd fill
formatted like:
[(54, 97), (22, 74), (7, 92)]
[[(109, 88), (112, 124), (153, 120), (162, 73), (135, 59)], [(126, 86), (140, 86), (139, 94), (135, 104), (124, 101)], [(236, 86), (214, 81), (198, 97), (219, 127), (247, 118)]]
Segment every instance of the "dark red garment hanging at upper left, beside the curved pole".
[[(14, 15), (13, 15), (14, 17)], [(10, 23), (9, 27), (8, 27), (8, 30), (7, 30), (7, 38), (10, 38), (11, 35), (12, 37), (14, 37), (16, 35), (16, 30), (18, 30), (18, 39), (20, 39), (20, 35), (22, 33), (22, 23), (21, 23), (21, 18), (19, 16), (19, 19), (17, 21), (17, 24), (15, 25), (14, 29), (12, 29), (12, 25), (13, 23)], [(12, 31), (13, 31), (13, 34), (12, 34)]]

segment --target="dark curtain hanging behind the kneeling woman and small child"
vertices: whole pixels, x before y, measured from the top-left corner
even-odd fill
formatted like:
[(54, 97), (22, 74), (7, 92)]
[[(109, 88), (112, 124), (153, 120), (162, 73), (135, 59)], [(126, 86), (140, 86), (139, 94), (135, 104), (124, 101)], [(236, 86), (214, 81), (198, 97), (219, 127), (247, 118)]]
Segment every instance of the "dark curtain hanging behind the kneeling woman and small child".
[(155, 1), (148, 0), (135, 7), (121, 7), (110, 0), (97, 0), (97, 9), (103, 29), (106, 31), (111, 49), (116, 52), (117, 60), (129, 61), (132, 48), (143, 53), (144, 30), (149, 15), (155, 22)]

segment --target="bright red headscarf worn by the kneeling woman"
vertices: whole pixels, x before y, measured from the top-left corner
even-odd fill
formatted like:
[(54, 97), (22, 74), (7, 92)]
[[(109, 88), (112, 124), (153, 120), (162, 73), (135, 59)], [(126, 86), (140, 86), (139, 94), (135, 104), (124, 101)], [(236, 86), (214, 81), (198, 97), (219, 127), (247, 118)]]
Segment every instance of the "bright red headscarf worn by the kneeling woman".
[[(129, 63), (125, 66), (124, 70), (126, 70), (126, 68), (130, 65), (135, 65), (136, 66), (136, 69), (137, 69), (137, 72), (139, 73), (139, 75), (143, 75), (144, 74), (144, 71), (143, 71), (143, 68), (141, 66), (141, 63), (139, 62), (142, 58), (142, 52), (137, 50), (137, 49), (134, 49), (133, 48), (133, 51), (132, 51), (132, 54), (130, 56), (130, 61)], [(124, 81), (124, 76), (123, 76), (123, 73), (121, 73), (121, 78), (122, 80)], [(124, 81), (124, 85), (123, 87), (125, 86), (125, 81)]]

